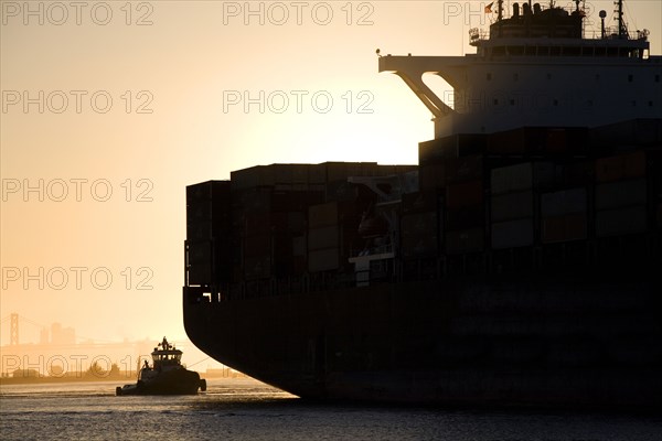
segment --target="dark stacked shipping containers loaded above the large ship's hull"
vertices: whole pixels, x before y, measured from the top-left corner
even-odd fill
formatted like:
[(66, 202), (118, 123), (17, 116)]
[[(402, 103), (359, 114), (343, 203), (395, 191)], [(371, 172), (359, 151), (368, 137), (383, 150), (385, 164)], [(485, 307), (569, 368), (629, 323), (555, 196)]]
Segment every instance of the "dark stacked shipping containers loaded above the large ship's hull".
[[(618, 148), (629, 152), (611, 153)], [(478, 271), (498, 272), (586, 263), (590, 254), (622, 249), (632, 235), (662, 227), (661, 157), (653, 147), (591, 146), (586, 129), (524, 128), (420, 143), (418, 166), (329, 162), (241, 170), (232, 183), (188, 189), (189, 282), (306, 277), (311, 289), (321, 289), (319, 280), (354, 277), (349, 259), (370, 248), (359, 234), (361, 217), (378, 201), (348, 176), (395, 174), (404, 182), (412, 171), (418, 190), (403, 192), (398, 218), (389, 220), (397, 228), (391, 238), (399, 239), (395, 265), (375, 261), (383, 268), (373, 271), (369, 261), (371, 273), (468, 273), (472, 261)]]

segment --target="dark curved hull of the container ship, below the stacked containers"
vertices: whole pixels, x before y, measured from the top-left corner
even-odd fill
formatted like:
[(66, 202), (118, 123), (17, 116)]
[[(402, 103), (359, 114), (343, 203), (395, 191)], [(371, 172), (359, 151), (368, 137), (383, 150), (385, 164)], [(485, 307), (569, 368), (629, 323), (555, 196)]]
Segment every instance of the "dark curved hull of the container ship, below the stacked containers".
[(418, 281), (190, 302), (192, 342), (305, 398), (662, 407), (652, 271)]

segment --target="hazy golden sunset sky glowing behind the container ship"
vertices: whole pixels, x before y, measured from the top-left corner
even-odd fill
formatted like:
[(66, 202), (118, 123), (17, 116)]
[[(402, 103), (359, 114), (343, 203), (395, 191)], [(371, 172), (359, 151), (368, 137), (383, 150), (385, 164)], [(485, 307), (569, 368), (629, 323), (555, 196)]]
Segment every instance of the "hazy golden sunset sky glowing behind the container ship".
[[(430, 115), (375, 50), (472, 53), (488, 3), (1, 1), (0, 318), (183, 338), (185, 186), (274, 162), (415, 163)], [(587, 3), (613, 24), (611, 1)], [(626, 9), (653, 54), (661, 4)]]

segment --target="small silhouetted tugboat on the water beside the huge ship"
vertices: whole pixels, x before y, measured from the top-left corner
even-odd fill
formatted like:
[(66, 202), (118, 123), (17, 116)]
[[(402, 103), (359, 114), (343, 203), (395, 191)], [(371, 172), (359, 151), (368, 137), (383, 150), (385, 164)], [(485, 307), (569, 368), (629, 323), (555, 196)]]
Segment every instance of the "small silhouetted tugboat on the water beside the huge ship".
[(196, 372), (188, 370), (181, 364), (182, 352), (163, 341), (151, 353), (152, 366), (145, 361), (138, 373), (138, 383), (117, 387), (115, 392), (121, 395), (194, 395), (197, 389), (205, 391), (206, 381)]

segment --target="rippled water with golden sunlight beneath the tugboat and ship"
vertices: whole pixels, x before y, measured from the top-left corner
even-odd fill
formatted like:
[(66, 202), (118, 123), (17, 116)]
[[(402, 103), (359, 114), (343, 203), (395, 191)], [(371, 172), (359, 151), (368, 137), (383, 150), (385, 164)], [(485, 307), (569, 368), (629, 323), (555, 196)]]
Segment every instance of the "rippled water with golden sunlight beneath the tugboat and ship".
[(658, 441), (662, 418), (310, 402), (250, 379), (197, 396), (116, 397), (114, 383), (2, 386), (2, 440)]

